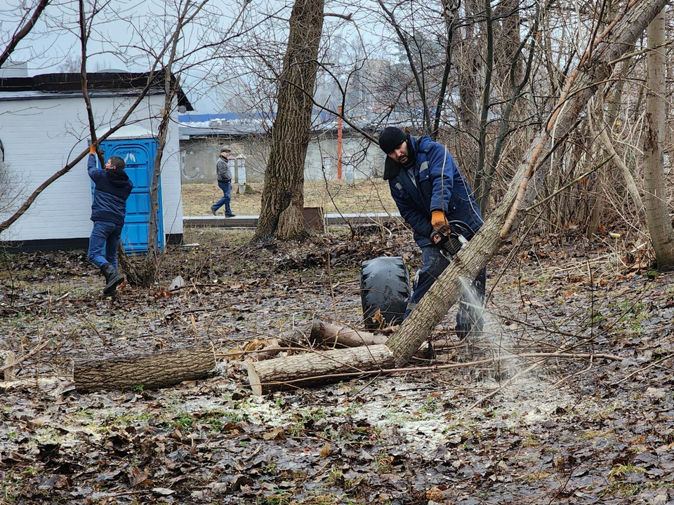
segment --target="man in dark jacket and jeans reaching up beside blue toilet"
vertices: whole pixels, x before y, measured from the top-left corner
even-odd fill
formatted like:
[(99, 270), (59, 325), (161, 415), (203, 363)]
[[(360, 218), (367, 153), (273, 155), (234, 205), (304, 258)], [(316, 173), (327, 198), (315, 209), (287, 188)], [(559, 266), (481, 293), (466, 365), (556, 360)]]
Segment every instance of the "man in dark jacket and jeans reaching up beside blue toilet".
[(103, 170), (96, 166), (95, 145), (89, 147), (89, 161), (86, 170), (93, 180), (93, 203), (91, 220), (93, 230), (89, 237), (88, 259), (100, 268), (105, 276), (103, 295), (117, 292), (117, 285), (124, 276), (117, 271), (117, 247), (126, 217), (126, 199), (131, 194), (133, 184), (124, 171), (126, 164), (119, 156), (111, 156)]

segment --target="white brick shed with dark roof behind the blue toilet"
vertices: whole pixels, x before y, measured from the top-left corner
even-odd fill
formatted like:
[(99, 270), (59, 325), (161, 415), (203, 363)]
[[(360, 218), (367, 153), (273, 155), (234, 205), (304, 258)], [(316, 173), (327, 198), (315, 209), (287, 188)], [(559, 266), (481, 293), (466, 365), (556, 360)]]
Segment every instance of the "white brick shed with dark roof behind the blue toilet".
[[(141, 139), (145, 144), (147, 140), (154, 142), (164, 108), (162, 81), (158, 75), (157, 85), (126, 120), (126, 126), (108, 137), (107, 147), (126, 140), (136, 140), (138, 145)], [(97, 135), (117, 125), (145, 83), (144, 73), (88, 74)], [(172, 107), (175, 121), (171, 121), (161, 163), (161, 243), (179, 243), (183, 236), (177, 119), (178, 107), (181, 111), (192, 107), (182, 92), (176, 101)], [(12, 215), (34, 189), (70, 163), (89, 142), (79, 74), (0, 79), (0, 220)], [(133, 148), (124, 152), (134, 159)], [(149, 151), (147, 156), (154, 155)], [(92, 227), (87, 160), (85, 156), (48, 186), (26, 213), (0, 234), (0, 243), (22, 250), (86, 248)]]

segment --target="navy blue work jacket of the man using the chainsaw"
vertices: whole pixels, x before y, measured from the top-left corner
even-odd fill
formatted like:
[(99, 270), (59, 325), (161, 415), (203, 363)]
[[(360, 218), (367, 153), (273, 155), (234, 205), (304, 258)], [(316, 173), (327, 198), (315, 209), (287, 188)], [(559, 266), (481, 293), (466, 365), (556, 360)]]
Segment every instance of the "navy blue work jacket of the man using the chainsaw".
[[(473, 238), (482, 226), (482, 215), (473, 191), (445, 147), (425, 137), (407, 137), (414, 158), (414, 169), (386, 158), (384, 180), (400, 215), (414, 229), (414, 240), (423, 247), (432, 244), (430, 224), (433, 210), (444, 210), (447, 220), (464, 222), (470, 229), (465, 238)], [(410, 178), (414, 174), (414, 182)]]

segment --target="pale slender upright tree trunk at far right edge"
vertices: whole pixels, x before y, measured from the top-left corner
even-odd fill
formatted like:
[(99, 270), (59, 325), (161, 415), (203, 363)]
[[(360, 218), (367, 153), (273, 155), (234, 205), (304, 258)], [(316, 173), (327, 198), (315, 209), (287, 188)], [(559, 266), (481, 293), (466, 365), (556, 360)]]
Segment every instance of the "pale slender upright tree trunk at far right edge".
[(667, 128), (665, 88), (666, 48), (664, 9), (648, 25), (646, 59), (646, 138), (644, 147), (644, 190), (646, 222), (658, 260), (658, 269), (674, 269), (674, 230), (669, 218), (663, 152)]

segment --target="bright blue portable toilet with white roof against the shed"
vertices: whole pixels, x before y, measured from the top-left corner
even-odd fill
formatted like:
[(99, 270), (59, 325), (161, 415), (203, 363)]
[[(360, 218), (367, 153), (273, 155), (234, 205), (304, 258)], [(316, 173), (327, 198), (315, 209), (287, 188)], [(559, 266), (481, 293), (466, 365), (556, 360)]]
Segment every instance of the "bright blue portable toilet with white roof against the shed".
[[(126, 219), (121, 241), (127, 254), (147, 253), (150, 228), (150, 185), (157, 154), (157, 139), (144, 128), (125, 126), (113, 138), (100, 143), (105, 160), (119, 156), (126, 163), (126, 173), (133, 182), (133, 191), (126, 201)], [(131, 138), (133, 137), (133, 138)], [(164, 249), (164, 213), (161, 208), (161, 175), (159, 176), (159, 208), (157, 209), (157, 246)]]

